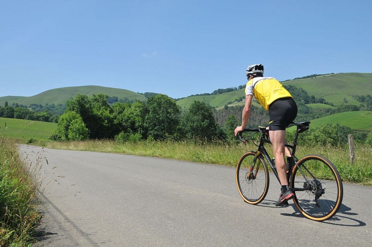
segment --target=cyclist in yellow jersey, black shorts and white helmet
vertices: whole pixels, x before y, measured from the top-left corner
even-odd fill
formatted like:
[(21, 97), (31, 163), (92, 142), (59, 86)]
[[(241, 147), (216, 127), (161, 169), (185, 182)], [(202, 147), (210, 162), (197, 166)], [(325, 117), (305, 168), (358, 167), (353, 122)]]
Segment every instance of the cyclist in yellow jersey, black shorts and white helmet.
[(279, 175), (281, 194), (275, 206), (285, 206), (295, 194), (288, 186), (286, 161), (291, 156), (285, 149), (286, 127), (297, 116), (297, 104), (292, 95), (283, 85), (272, 77), (263, 77), (263, 65), (253, 64), (246, 71), (248, 83), (245, 88), (245, 106), (242, 111), (242, 125), (235, 128), (235, 136), (245, 128), (248, 123), (253, 95), (256, 100), (269, 112), (269, 135), (273, 146), (275, 165)]

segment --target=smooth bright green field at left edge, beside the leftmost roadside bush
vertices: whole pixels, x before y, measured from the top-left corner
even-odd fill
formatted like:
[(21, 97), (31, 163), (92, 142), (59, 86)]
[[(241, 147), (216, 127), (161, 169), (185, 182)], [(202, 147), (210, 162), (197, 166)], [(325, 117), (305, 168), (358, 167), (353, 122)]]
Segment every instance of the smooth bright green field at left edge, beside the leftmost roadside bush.
[(0, 137), (17, 138), (20, 141), (35, 138), (46, 140), (57, 129), (57, 124), (22, 119), (0, 118)]

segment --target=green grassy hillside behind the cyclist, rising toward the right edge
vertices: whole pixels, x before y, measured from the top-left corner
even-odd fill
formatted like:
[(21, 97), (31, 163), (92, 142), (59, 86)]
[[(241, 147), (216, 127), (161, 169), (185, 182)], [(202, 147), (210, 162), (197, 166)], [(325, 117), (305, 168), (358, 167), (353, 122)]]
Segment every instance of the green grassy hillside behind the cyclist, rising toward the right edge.
[[(342, 104), (360, 105), (353, 99), (353, 95), (372, 95), (372, 73), (342, 73), (327, 76), (319, 76), (309, 79), (299, 79), (283, 82), (284, 85), (294, 85), (303, 88), (308, 95), (316, 98), (324, 98), (335, 106)], [(206, 96), (190, 96), (177, 101), (183, 109), (187, 109), (194, 100), (204, 101), (212, 107), (220, 107), (234, 102), (235, 99), (244, 96), (244, 89)], [(228, 106), (244, 105), (244, 102), (232, 103)], [(319, 107), (319, 106), (318, 106)]]

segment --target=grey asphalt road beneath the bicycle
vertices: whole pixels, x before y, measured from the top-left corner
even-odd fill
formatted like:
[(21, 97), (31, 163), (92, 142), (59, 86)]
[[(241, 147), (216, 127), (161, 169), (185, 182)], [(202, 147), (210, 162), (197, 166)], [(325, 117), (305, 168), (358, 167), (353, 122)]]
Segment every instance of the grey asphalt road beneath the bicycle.
[[(372, 246), (372, 187), (344, 183), (330, 220), (275, 207), (280, 187), (244, 203), (235, 168), (41, 149), (20, 153), (42, 181), (38, 246)], [(238, 159), (238, 157), (237, 157)]]

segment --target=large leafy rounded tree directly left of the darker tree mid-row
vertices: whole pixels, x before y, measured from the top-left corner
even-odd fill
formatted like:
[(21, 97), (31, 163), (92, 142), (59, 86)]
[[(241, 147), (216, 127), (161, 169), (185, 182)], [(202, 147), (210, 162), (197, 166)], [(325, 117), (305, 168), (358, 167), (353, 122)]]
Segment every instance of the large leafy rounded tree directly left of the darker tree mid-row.
[(155, 140), (174, 137), (181, 113), (176, 101), (165, 94), (157, 94), (148, 99), (147, 106), (149, 112), (145, 117), (145, 125), (149, 135)]

